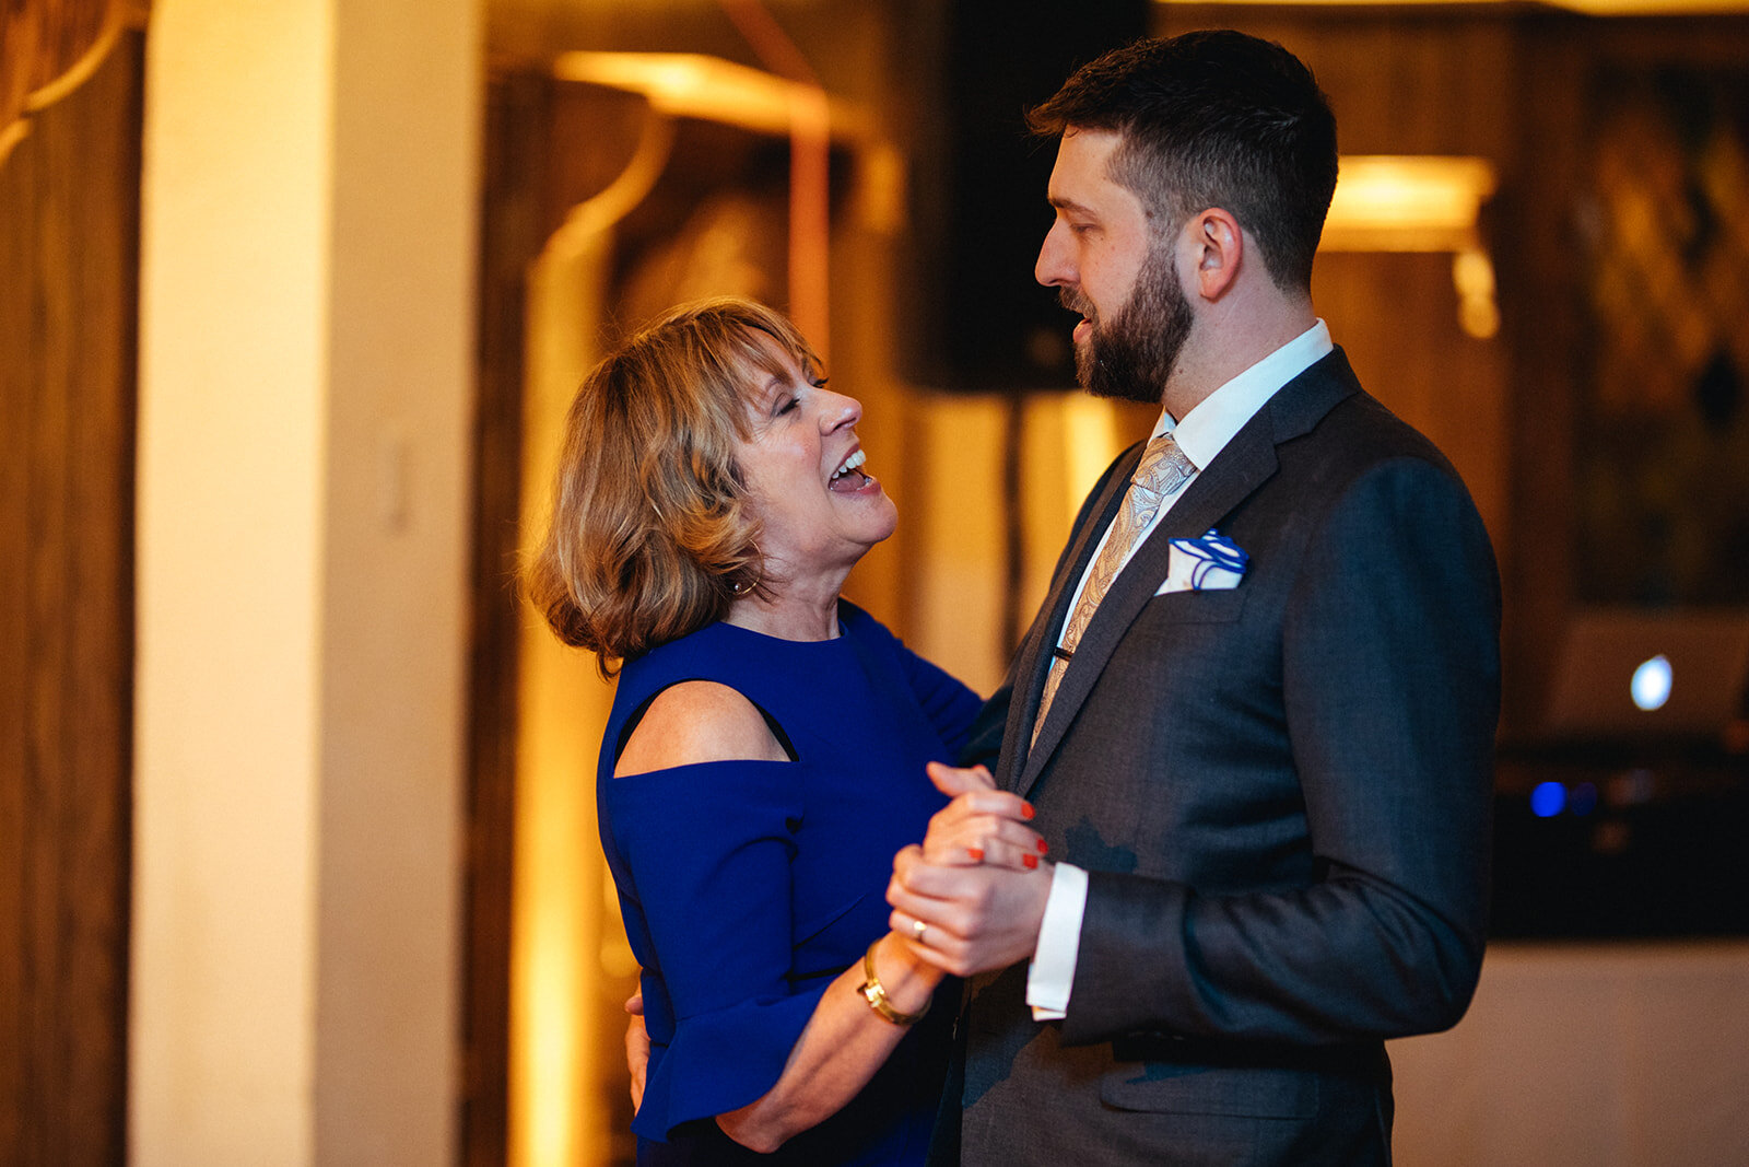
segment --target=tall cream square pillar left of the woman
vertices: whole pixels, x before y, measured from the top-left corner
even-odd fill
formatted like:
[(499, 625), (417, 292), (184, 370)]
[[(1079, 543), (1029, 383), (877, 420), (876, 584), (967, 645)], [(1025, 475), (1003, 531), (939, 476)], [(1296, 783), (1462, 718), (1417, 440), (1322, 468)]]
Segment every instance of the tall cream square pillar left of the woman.
[(474, 0), (159, 0), (129, 1158), (456, 1134)]

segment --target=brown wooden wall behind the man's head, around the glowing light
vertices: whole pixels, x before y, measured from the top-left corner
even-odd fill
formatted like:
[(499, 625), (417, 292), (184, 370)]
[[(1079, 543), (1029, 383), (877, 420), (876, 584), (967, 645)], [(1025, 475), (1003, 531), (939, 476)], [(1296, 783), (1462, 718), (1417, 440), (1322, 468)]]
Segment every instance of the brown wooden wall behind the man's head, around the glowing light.
[(1502, 327), (1455, 334), (1425, 257), (1322, 255), (1315, 297), (1362, 381), (1452, 455), (1506, 591), (1508, 738), (1534, 731), (1574, 605), (1578, 411), (1590, 353), (1579, 240), (1588, 100), (1611, 63), (1740, 70), (1742, 16), (1592, 19), (1525, 5), (1170, 5), (1163, 31), (1238, 26), (1317, 73), (1347, 154), (1473, 154)]

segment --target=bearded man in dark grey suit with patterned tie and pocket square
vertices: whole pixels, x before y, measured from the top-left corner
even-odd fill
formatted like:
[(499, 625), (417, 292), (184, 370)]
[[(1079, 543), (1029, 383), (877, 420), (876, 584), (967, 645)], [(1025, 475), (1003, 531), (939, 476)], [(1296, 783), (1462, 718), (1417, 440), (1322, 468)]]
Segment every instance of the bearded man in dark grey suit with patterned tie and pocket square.
[(1161, 415), (986, 709), (1055, 863), (979, 864), (964, 817), (1014, 800), (974, 794), (894, 864), (892, 927), (971, 978), (937, 1160), (1385, 1164), (1383, 1041), (1481, 964), (1487, 532), (1312, 308), (1336, 122), (1293, 54), (1146, 40), (1032, 121), (1081, 380)]

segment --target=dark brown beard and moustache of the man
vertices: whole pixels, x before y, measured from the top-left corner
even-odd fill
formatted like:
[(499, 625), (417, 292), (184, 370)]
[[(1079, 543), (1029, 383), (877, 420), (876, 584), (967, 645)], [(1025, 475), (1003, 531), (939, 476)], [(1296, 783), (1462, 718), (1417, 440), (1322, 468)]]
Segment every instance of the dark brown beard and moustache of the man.
[[(1058, 299), (1084, 317), (1093, 311), (1079, 290), (1063, 289)], [(1193, 320), (1170, 248), (1151, 248), (1135, 275), (1130, 303), (1105, 324), (1093, 320), (1088, 339), (1076, 345), (1076, 380), (1095, 397), (1160, 404)]]

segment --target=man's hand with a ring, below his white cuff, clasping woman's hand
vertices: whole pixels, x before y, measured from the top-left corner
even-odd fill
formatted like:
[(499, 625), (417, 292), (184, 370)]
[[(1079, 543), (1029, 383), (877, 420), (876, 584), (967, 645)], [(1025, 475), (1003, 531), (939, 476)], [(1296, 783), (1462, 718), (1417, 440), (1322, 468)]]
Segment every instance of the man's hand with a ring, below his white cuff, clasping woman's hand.
[(1032, 959), (1049, 896), (1048, 863), (1021, 871), (944, 866), (911, 845), (892, 863), (888, 924), (918, 959), (955, 976), (971, 976)]

